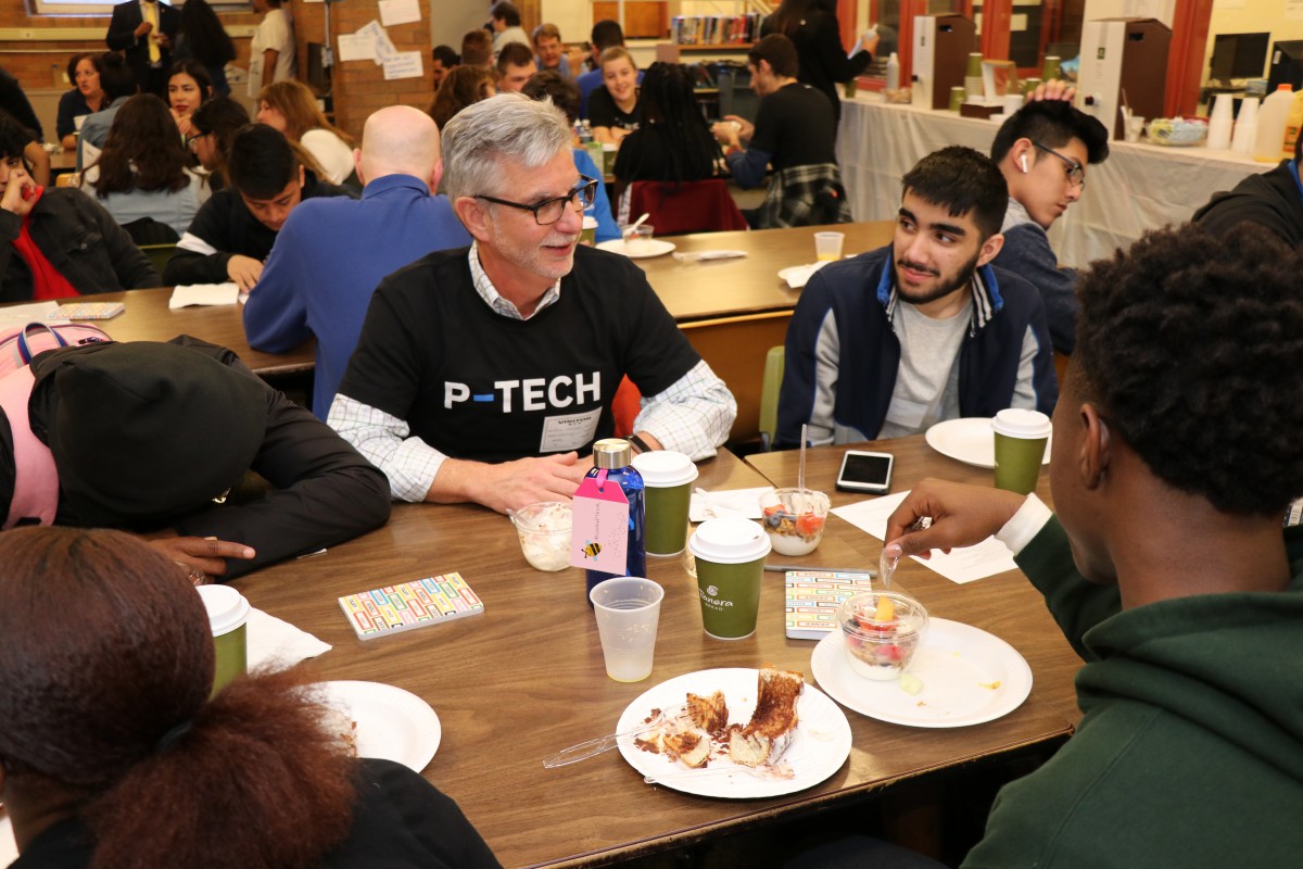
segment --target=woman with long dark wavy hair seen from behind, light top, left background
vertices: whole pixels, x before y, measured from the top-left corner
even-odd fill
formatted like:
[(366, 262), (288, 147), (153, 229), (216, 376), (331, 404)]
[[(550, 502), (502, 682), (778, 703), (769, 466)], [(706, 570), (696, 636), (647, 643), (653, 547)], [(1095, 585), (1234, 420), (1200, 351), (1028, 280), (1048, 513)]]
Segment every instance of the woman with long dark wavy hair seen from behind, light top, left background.
[(152, 218), (185, 235), (212, 189), (188, 165), (171, 112), (154, 94), (126, 100), (99, 159), (82, 172), (82, 189), (93, 193), (119, 225)]

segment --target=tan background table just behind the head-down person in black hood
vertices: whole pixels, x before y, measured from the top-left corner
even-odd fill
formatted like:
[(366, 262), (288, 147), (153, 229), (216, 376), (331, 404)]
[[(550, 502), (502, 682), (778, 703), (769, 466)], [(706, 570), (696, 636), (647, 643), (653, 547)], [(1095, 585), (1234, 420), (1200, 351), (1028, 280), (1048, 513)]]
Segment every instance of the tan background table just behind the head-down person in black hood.
[(121, 293), (86, 296), (87, 302), (125, 302), (126, 310), (112, 319), (93, 321), (119, 341), (167, 341), (177, 335), (231, 348), (245, 365), (262, 377), (311, 371), (315, 363), (315, 340), (308, 340), (288, 353), (263, 353), (249, 347), (241, 319), (242, 305), (195, 306), (169, 310), (169, 287), (129, 289)]

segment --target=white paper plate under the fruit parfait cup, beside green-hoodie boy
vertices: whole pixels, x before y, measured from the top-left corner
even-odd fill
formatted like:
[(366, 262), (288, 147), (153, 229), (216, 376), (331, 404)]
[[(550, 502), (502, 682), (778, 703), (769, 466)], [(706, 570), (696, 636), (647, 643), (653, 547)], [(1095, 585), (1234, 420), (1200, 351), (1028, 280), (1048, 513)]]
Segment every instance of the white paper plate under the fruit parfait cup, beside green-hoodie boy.
[(820, 687), (847, 709), (909, 727), (981, 724), (1014, 711), (1032, 692), (1032, 668), (1014, 646), (947, 619), (928, 621), (909, 663), (923, 683), (917, 694), (906, 693), (896, 680), (873, 681), (852, 671), (840, 631), (818, 641), (810, 668)]

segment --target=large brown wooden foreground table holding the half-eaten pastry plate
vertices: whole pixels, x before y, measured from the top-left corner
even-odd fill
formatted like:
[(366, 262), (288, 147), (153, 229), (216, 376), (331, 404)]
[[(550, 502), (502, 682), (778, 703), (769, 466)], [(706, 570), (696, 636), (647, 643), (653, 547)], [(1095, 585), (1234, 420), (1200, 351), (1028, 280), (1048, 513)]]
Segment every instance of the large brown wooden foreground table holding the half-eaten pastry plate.
[[(700, 468), (697, 485), (708, 489), (764, 485), (727, 452)], [(830, 535), (818, 556), (864, 564), (868, 558), (851, 538)], [(450, 571), (461, 571), (483, 598), (482, 615), (361, 642), (336, 603), (343, 594)], [(684, 847), (979, 758), (1036, 750), (1071, 732), (1050, 702), (1053, 687), (1037, 684), (1010, 715), (959, 730), (913, 730), (848, 713), (850, 761), (822, 784), (778, 799), (713, 800), (648, 786), (618, 752), (545, 770), (545, 757), (610, 734), (636, 697), (666, 679), (764, 662), (809, 676), (814, 644), (783, 636), (779, 575), (766, 575), (758, 632), (724, 642), (702, 633), (696, 584), (681, 558), (650, 559), (648, 572), (666, 595), (655, 668), (636, 684), (606, 676), (581, 572), (533, 571), (508, 520), (477, 507), (399, 506), (386, 528), (235, 585), (254, 606), (335, 646), (309, 664), (322, 679), (383, 681), (430, 702), (443, 741), (425, 775), (457, 800), (509, 868), (603, 865)], [(1014, 584), (990, 585), (980, 599), (939, 589), (929, 603), (977, 623), (989, 623), (986, 614), (1014, 619), (1035, 608)], [(1049, 653), (1038, 633), (1050, 628), (1036, 631), (1016, 640), (1040, 676)]]

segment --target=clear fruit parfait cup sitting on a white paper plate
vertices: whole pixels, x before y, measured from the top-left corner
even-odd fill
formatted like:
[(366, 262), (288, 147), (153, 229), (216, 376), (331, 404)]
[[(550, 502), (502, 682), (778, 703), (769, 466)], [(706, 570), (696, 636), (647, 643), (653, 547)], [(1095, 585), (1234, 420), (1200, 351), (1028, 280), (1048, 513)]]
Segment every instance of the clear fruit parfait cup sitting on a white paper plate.
[(876, 681), (899, 679), (928, 627), (928, 611), (903, 591), (865, 591), (837, 611), (851, 670)]

